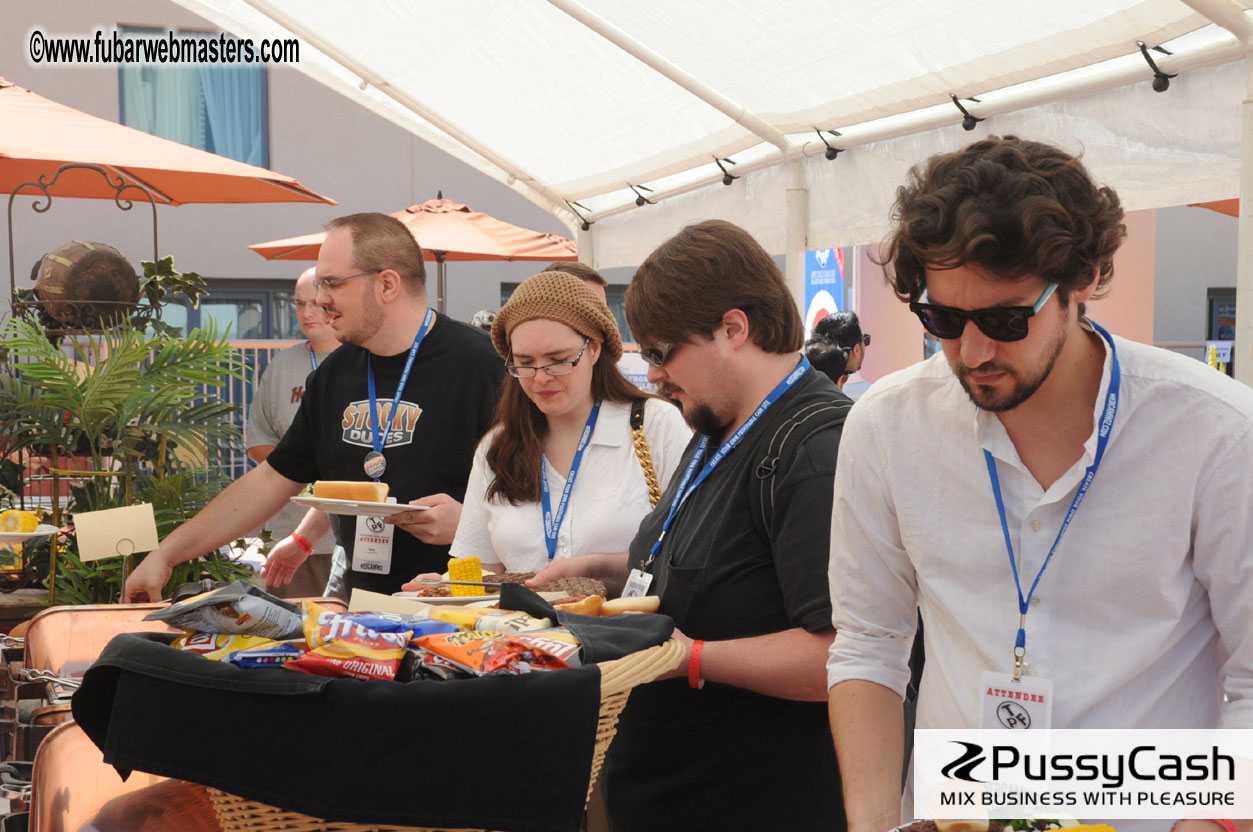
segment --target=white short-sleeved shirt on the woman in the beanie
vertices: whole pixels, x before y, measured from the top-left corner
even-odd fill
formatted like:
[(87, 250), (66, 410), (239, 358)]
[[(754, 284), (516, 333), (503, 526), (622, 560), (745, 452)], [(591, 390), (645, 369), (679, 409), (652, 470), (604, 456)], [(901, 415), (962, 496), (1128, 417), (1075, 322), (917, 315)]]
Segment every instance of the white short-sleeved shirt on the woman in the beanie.
[[(451, 556), (479, 556), (484, 563), (504, 564), (506, 571), (539, 571), (548, 564), (540, 504), (510, 505), (500, 497), (486, 499), (492, 479), (486, 455), (495, 435), (495, 430), (489, 432), (475, 452)], [(678, 407), (650, 398), (644, 406), (644, 439), (664, 491), (692, 439), (692, 430)], [(544, 471), (556, 511), (565, 477), (548, 461)], [(639, 521), (649, 511), (644, 470), (630, 430), (630, 405), (606, 401), (600, 406), (596, 426), (583, 452), (570, 504), (558, 531), (555, 558), (626, 551)]]

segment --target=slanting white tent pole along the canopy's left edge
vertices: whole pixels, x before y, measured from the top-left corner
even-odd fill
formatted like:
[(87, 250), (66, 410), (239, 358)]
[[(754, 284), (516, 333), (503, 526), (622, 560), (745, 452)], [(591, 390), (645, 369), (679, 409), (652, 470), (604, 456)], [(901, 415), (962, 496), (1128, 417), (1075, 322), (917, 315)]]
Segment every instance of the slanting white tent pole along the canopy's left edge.
[(565, 198), (561, 194), (555, 193), (548, 187), (540, 184), (535, 177), (528, 174), (523, 168), (502, 155), (497, 154), (491, 148), (484, 145), (476, 140), (470, 134), (461, 130), (459, 127), (445, 119), (442, 115), (424, 105), (421, 101), (411, 95), (397, 91), (395, 88), (387, 84), (386, 80), (378, 78), (373, 71), (370, 70), (365, 64), (357, 61), (353, 58), (343, 54), (342, 50), (337, 49), (336, 45), (326, 38), (322, 38), (308, 26), (303, 26), (293, 16), (284, 14), (282, 10), (276, 9), (273, 4), (268, 0), (244, 0), (244, 3), (257, 10), (259, 14), (269, 18), (279, 26), (283, 26), (291, 31), (297, 38), (301, 38), (311, 46), (323, 53), (327, 58), (335, 60), (337, 64), (353, 73), (366, 84), (370, 84), (380, 93), (392, 99), (408, 112), (419, 115), (426, 122), (430, 122), (434, 127), (447, 134), (454, 140), (459, 142), (464, 147), (474, 150), (480, 157), (496, 165), (506, 177), (511, 180), (507, 184), (520, 188), (523, 192), (529, 192), (531, 194), (531, 202), (535, 202), (541, 208), (548, 211), (550, 214), (564, 222), (568, 227), (574, 228), (574, 223), (578, 218), (570, 213), (565, 207)]

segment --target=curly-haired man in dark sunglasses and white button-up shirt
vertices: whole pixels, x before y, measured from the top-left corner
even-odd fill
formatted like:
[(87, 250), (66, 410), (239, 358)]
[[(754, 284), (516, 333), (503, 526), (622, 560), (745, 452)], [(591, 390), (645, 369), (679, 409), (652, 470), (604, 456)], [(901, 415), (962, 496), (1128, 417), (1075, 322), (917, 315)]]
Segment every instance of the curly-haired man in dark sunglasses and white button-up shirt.
[(916, 609), (918, 728), (1253, 728), (1253, 391), (1085, 316), (1126, 236), (1118, 195), (990, 138), (916, 167), (893, 217), (883, 264), (944, 350), (876, 382), (840, 451), (848, 828), (901, 819)]

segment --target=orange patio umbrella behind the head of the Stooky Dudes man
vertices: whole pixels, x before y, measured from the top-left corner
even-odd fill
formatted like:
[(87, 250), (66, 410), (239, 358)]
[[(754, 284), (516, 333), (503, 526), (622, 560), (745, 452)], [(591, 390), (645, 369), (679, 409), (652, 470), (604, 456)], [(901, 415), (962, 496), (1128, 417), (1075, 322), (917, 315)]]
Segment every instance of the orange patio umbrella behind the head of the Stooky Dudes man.
[[(579, 252), (574, 241), (556, 234), (520, 228), (469, 205), (444, 199), (429, 199), (392, 214), (405, 223), (422, 247), (426, 259), (435, 261), (437, 307), (444, 311), (445, 261), (574, 261)], [(266, 259), (317, 259), (326, 232), (273, 239), (249, 246)]]

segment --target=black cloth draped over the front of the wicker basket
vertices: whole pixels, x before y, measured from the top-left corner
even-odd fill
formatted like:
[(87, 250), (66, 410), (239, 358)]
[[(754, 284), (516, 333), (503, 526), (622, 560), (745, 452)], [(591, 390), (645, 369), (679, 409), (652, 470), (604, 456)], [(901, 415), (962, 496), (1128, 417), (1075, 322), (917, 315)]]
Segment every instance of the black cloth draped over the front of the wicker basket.
[(172, 638), (118, 635), (74, 695), (74, 718), (123, 777), (177, 777), (328, 821), (579, 829), (594, 664), (367, 682), (244, 670), (170, 649)]

